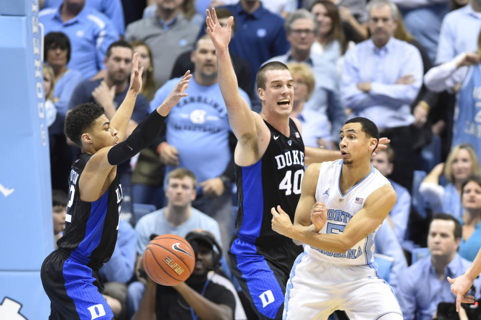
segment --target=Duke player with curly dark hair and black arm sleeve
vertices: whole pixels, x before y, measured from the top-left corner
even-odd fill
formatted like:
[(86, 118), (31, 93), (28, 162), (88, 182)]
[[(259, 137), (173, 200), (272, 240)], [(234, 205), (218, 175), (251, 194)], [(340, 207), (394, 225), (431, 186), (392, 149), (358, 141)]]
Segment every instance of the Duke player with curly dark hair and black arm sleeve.
[(187, 96), (190, 72), (162, 104), (125, 140), (135, 100), (142, 87), (138, 54), (132, 59), (127, 95), (109, 119), (94, 103), (82, 104), (67, 115), (65, 133), (82, 149), (72, 165), (66, 226), (58, 249), (42, 264), (41, 278), (51, 301), (49, 319), (112, 319), (100, 291), (98, 270), (107, 262), (117, 239), (122, 187), (117, 164), (147, 147), (158, 135), (170, 109)]

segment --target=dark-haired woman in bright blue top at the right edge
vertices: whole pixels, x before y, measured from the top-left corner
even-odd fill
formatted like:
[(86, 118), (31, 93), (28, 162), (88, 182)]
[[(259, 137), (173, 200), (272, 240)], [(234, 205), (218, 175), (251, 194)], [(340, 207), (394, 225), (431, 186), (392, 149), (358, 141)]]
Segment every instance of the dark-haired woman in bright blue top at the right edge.
[(481, 247), (481, 177), (470, 176), (462, 185), (462, 206), (464, 213), (460, 219), (462, 237), (458, 253), (472, 261)]

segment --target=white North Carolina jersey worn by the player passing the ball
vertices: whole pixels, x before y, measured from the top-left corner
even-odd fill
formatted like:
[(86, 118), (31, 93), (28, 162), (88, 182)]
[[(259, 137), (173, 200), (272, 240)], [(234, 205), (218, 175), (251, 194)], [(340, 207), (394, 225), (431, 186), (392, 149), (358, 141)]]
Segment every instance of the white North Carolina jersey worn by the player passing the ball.
[[(351, 218), (361, 210), (371, 193), (389, 184), (379, 171), (371, 172), (345, 194), (339, 189), (342, 160), (323, 162), (316, 187), (316, 201), (322, 201), (328, 208), (327, 220), (319, 233), (342, 233)], [(376, 228), (377, 230), (377, 228)], [(374, 235), (376, 230), (356, 243), (347, 252), (333, 253), (305, 246), (312, 257), (338, 264), (365, 265), (374, 261)]]

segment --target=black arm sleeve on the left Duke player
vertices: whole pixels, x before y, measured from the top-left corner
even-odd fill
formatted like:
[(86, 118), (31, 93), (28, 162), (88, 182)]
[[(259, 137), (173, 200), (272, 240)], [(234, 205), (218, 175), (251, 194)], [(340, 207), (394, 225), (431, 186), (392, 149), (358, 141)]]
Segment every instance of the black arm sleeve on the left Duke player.
[(125, 141), (109, 150), (109, 163), (116, 166), (148, 147), (158, 136), (164, 120), (165, 117), (159, 115), (157, 110), (145, 117)]

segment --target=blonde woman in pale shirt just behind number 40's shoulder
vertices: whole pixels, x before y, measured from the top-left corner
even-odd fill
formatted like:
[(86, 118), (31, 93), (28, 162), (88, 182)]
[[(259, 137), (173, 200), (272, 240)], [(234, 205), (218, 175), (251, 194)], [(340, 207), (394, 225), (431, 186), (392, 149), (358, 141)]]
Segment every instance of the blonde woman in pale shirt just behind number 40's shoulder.
[(305, 63), (288, 63), (294, 80), (294, 102), (291, 117), (302, 124), (302, 140), (305, 146), (331, 149), (331, 124), (325, 114), (304, 108), (316, 85), (311, 68)]

